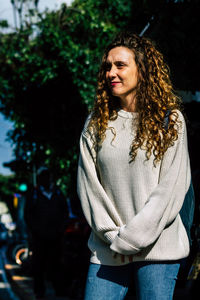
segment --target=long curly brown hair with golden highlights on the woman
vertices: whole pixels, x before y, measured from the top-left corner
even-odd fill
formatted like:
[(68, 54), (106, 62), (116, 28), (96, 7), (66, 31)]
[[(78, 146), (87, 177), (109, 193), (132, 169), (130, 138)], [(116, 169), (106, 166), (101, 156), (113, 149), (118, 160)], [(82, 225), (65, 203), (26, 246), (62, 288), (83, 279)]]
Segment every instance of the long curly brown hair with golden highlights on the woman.
[[(115, 47), (131, 49), (138, 68), (136, 104), (138, 126), (130, 150), (133, 161), (139, 148), (146, 150), (146, 158), (154, 155), (154, 163), (160, 161), (166, 150), (178, 138), (178, 113), (181, 100), (173, 92), (168, 65), (154, 43), (133, 33), (120, 33), (106, 48), (98, 74), (97, 95), (88, 129), (93, 132), (95, 150), (106, 136), (109, 120), (115, 120), (120, 109), (119, 99), (111, 94), (106, 80), (106, 60), (108, 53)], [(164, 126), (165, 116), (169, 113), (169, 124)]]

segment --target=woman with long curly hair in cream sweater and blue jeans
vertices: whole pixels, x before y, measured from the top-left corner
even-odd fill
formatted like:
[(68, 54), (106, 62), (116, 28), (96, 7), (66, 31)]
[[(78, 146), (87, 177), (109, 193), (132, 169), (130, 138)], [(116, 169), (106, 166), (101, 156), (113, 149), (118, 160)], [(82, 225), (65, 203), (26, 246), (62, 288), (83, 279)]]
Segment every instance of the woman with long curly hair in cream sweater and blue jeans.
[[(106, 49), (80, 140), (78, 193), (92, 233), (85, 300), (173, 298), (189, 254), (179, 211), (190, 185), (185, 121), (153, 43), (121, 33)], [(167, 119), (167, 125), (166, 125)]]

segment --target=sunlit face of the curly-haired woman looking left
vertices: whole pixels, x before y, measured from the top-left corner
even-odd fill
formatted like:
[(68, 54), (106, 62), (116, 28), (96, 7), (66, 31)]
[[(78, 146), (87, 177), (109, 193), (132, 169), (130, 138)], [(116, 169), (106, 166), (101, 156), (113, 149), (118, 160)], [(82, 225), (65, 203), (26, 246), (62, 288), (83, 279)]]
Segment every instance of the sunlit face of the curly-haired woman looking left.
[(132, 50), (116, 47), (109, 51), (106, 61), (106, 79), (113, 96), (123, 101), (134, 98), (138, 83), (138, 68)]

